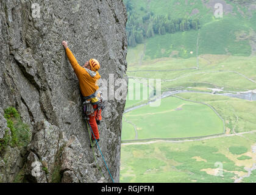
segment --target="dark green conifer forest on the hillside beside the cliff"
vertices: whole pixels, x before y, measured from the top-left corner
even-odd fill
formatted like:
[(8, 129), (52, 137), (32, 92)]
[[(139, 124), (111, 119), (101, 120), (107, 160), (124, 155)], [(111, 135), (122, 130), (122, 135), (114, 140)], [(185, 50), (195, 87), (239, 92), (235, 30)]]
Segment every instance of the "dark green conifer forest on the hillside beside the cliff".
[(170, 15), (154, 15), (154, 13), (140, 8), (145, 14), (141, 17), (133, 9), (129, 0), (124, 1), (127, 9), (128, 21), (126, 23), (126, 33), (128, 45), (135, 47), (143, 43), (145, 38), (154, 37), (155, 34), (165, 35), (191, 29), (199, 29), (199, 19), (171, 18)]

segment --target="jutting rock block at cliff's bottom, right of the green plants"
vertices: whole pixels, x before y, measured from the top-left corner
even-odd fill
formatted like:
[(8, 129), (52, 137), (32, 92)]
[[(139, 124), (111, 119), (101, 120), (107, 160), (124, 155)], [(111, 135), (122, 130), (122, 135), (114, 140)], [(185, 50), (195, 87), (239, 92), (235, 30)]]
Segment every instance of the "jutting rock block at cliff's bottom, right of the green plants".
[(47, 121), (37, 122), (35, 129), (28, 147), (26, 180), (40, 183), (102, 182), (98, 169), (94, 163), (88, 163), (87, 151), (74, 135), (68, 140), (65, 132)]

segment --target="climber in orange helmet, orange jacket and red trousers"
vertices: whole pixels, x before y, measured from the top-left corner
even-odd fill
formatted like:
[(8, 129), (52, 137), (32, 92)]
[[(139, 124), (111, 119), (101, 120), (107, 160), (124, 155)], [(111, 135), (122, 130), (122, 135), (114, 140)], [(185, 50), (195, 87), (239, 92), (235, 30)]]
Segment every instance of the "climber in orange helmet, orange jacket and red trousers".
[(101, 110), (103, 109), (100, 94), (95, 95), (96, 91), (99, 89), (97, 80), (101, 78), (98, 73), (100, 65), (98, 60), (90, 59), (85, 62), (83, 66), (80, 66), (73, 53), (68, 48), (68, 43), (66, 41), (62, 41), (62, 45), (66, 50), (66, 55), (74, 69), (74, 73), (76, 73), (79, 80), (80, 91), (82, 96), (84, 96), (84, 112), (87, 116), (91, 129), (93, 130), (93, 133), (91, 133), (90, 147), (95, 147), (96, 140), (99, 142), (99, 130), (97, 124), (101, 121)]

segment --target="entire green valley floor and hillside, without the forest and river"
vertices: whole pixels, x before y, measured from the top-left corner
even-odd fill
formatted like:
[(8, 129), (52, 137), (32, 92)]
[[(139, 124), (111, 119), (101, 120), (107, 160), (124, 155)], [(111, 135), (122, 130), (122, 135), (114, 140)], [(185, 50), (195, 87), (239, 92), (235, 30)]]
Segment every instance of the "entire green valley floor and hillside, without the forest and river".
[[(229, 13), (215, 18), (210, 1), (130, 1), (141, 16), (199, 18), (201, 29), (128, 49), (129, 79), (162, 79), (162, 93), (190, 92), (124, 113), (120, 182), (256, 182), (256, 101), (221, 95), (256, 90), (256, 11), (226, 1)], [(147, 101), (127, 99), (126, 109)]]

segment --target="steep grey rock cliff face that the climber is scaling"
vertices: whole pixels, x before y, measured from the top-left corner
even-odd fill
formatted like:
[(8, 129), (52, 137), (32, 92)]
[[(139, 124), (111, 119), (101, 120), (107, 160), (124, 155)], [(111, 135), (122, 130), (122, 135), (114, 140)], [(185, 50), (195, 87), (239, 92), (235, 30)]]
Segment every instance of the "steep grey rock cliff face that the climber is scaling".
[[(113, 74), (115, 80), (127, 80), (126, 21), (121, 0), (1, 1), (0, 138), (5, 129), (2, 110), (13, 106), (34, 131), (23, 159), (31, 182), (52, 182), (59, 166), (62, 182), (111, 182), (97, 150), (96, 160), (107, 180), (95, 167), (82, 119), (78, 80), (61, 42), (68, 41), (80, 65), (98, 59), (102, 79), (108, 81)], [(107, 100), (99, 126), (99, 146), (115, 182), (119, 182), (124, 104)], [(19, 155), (16, 152), (13, 161), (16, 156), (20, 159)], [(42, 176), (31, 175), (35, 168), (32, 161), (42, 163)], [(9, 178), (4, 182), (12, 182), (20, 169), (16, 162), (9, 163), (15, 171), (9, 177), (0, 167), (0, 178)]]

